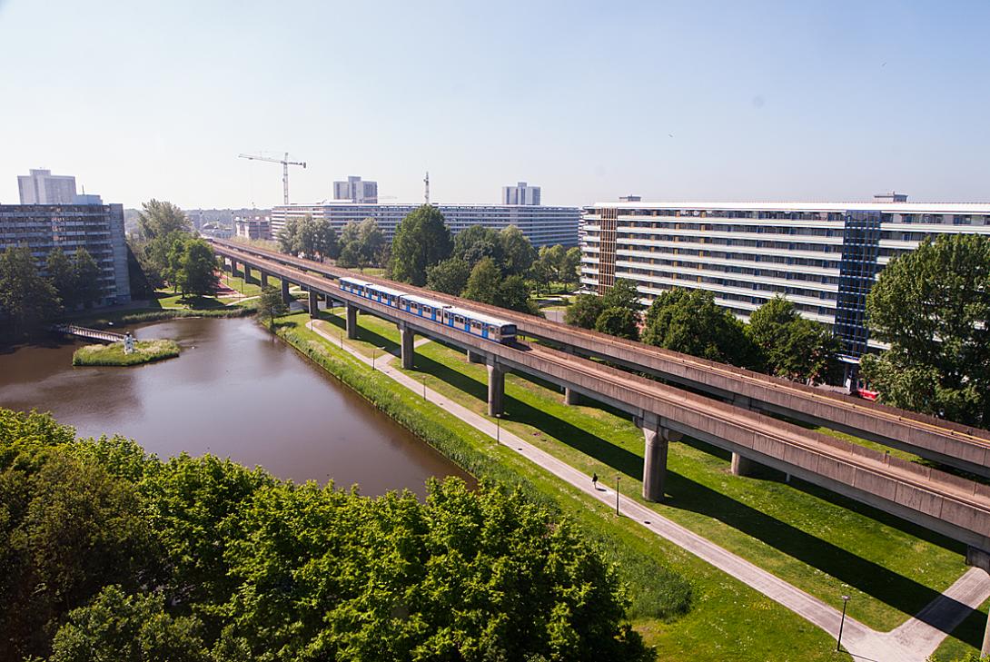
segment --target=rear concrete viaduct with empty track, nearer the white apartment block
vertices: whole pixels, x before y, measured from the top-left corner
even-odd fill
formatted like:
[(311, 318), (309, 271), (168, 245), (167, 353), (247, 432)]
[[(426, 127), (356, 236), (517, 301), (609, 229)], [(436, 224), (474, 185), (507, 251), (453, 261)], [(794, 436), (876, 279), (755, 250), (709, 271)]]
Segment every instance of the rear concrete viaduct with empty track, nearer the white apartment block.
[[(230, 256), (230, 251), (233, 250), (245, 258), (253, 256), (256, 260), (293, 266), (330, 278), (355, 275), (347, 269), (245, 244), (217, 240), (213, 243), (218, 253), (226, 256)], [(381, 278), (361, 278), (396, 286), (395, 283)], [(438, 301), (470, 307), (514, 322), (522, 334), (550, 342), (570, 353), (604, 359), (614, 365), (651, 374), (737, 407), (848, 432), (947, 466), (990, 477), (990, 432), (984, 429), (960, 426), (859, 398), (824, 392), (785, 379), (605, 333), (575, 329), (531, 315), (464, 302), (457, 297), (410, 285), (402, 284), (401, 287)], [(744, 462), (737, 459), (734, 470), (741, 466), (744, 467)]]

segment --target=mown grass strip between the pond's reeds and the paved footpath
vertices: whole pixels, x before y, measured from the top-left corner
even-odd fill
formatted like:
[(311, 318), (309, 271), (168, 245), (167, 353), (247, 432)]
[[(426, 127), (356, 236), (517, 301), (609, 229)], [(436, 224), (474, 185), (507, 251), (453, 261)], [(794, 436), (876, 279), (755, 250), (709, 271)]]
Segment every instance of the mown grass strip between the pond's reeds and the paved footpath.
[[(340, 317), (325, 316), (329, 325), (343, 323)], [(392, 389), (417, 415), (442, 422), (454, 430), (465, 442), (481, 452), (491, 454), (502, 465), (511, 468), (527, 479), (542, 493), (551, 496), (561, 510), (578, 521), (588, 531), (597, 531), (601, 543), (620, 554), (617, 563), (623, 578), (630, 582), (631, 590), (648, 591), (656, 577), (638, 572), (636, 565), (623, 562), (622, 553), (645, 556), (653, 560), (654, 567), (668, 569), (684, 578), (691, 585), (691, 609), (686, 615), (666, 619), (648, 618), (631, 612), (634, 625), (647, 643), (657, 646), (657, 659), (662, 662), (681, 660), (706, 660), (757, 662), (763, 660), (809, 661), (848, 660), (845, 654), (834, 652), (833, 636), (792, 614), (776, 603), (749, 589), (729, 575), (716, 570), (679, 547), (657, 538), (642, 526), (625, 518), (616, 518), (610, 508), (592, 502), (570, 486), (545, 474), (543, 470), (521, 458), (504, 446), (497, 446), (487, 436), (473, 427), (463, 424), (446, 412), (417, 397), (414, 393), (395, 384), (391, 379), (372, 373), (341, 350), (337, 343), (323, 339), (307, 330), (309, 321), (305, 314), (293, 315), (281, 320), (308, 341), (320, 346), (321, 351), (342, 360), (353, 362), (367, 370), (383, 388)], [(395, 347), (398, 331), (394, 325), (370, 316), (359, 316), (360, 339), (346, 340), (354, 345)], [(429, 349), (449, 351), (436, 343), (420, 348), (420, 356)], [(462, 359), (460, 359), (462, 360)], [(427, 364), (430, 367), (430, 364)], [(438, 363), (439, 367), (440, 364)], [(477, 367), (477, 366), (475, 366)], [(481, 367), (483, 370), (483, 366)], [(443, 373), (441, 371), (438, 374)], [(446, 374), (445, 374), (446, 376)], [(431, 388), (441, 387), (431, 380)], [(468, 396), (469, 398), (473, 396)], [(584, 409), (584, 408), (572, 408)], [(641, 556), (641, 558), (642, 558)]]

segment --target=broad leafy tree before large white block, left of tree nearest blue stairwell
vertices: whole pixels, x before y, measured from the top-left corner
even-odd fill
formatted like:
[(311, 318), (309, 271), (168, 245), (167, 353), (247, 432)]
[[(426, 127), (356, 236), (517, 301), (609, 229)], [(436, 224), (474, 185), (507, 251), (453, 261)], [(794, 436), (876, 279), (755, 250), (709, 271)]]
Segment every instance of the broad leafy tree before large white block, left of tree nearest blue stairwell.
[(675, 288), (658, 296), (646, 312), (643, 341), (747, 368), (759, 363), (743, 323), (705, 290)]

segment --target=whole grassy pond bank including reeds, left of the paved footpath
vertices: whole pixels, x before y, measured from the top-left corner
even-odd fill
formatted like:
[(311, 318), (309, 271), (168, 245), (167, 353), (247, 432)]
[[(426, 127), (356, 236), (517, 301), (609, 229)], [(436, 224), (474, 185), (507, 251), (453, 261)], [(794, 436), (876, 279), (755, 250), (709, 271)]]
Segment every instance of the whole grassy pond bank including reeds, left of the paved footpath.
[[(548, 476), (505, 446), (496, 445), (490, 437), (442, 408), (371, 371), (341, 350), (339, 340), (328, 341), (306, 329), (307, 321), (306, 315), (285, 318), (279, 331), (348, 386), (471, 473), (520, 485), (541, 501), (551, 500), (588, 531), (589, 538), (603, 546), (629, 582), (633, 597), (630, 615), (646, 641), (658, 646), (659, 660), (848, 659), (833, 652), (835, 640), (829, 634), (639, 524), (616, 518), (609, 507), (590, 502), (577, 490)], [(348, 344), (361, 347), (368, 355), (380, 352), (376, 349), (379, 346), (395, 348), (394, 337), (389, 339), (379, 333), (384, 331), (385, 323), (361, 316), (360, 325), (359, 339), (347, 340)], [(429, 343), (418, 350), (419, 355), (423, 356), (428, 347), (439, 345)], [(428, 383), (431, 388), (441, 386), (439, 376), (447, 375), (437, 373), (437, 379)], [(690, 585), (690, 610), (686, 614), (682, 578)]]

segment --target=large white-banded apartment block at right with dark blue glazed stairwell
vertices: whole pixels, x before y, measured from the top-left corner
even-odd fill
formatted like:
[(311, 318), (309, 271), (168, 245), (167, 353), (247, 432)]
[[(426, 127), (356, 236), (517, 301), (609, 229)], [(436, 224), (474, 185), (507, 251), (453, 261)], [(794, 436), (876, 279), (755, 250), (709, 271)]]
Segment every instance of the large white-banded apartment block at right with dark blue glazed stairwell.
[(781, 295), (833, 329), (846, 359), (870, 340), (865, 302), (883, 267), (929, 236), (990, 236), (990, 203), (598, 203), (582, 215), (581, 285), (637, 283), (644, 304), (675, 287), (709, 290), (743, 320)]

